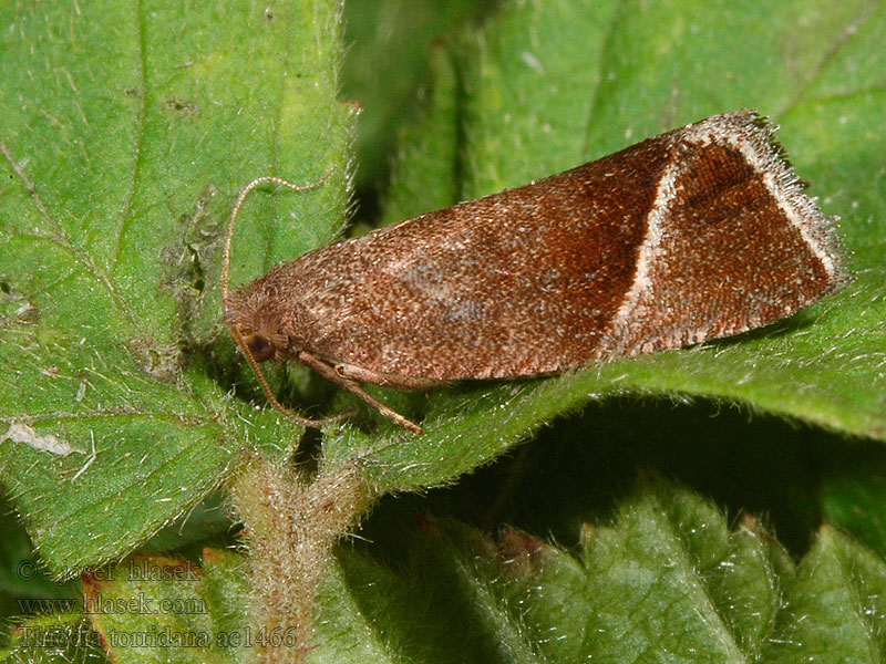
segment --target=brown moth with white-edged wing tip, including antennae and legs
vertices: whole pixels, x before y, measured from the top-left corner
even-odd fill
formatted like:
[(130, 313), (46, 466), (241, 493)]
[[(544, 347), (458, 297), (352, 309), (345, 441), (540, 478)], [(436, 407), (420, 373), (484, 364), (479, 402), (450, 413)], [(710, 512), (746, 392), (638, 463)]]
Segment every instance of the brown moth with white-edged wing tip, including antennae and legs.
[(571, 170), (309, 251), (228, 293), (258, 363), (300, 362), (413, 432), (361, 383), (556, 374), (765, 325), (845, 281), (825, 218), (756, 113), (717, 115)]

